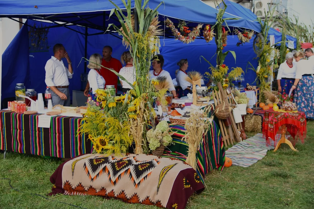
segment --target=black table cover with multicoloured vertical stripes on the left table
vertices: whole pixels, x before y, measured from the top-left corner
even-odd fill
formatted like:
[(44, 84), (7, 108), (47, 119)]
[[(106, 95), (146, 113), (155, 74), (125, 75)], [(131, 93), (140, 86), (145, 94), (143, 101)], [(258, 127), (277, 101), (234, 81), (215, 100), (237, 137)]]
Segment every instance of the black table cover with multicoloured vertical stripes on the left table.
[(24, 154), (73, 158), (91, 153), (91, 142), (77, 134), (80, 117), (53, 116), (50, 128), (38, 128), (38, 116), (0, 111), (0, 149)]

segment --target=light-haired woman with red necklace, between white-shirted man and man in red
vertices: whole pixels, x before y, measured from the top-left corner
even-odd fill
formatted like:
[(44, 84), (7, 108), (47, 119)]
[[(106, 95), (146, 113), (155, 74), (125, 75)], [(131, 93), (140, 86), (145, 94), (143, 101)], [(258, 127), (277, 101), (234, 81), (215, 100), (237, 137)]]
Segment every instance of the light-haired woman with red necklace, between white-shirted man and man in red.
[(100, 54), (92, 54), (89, 57), (89, 63), (87, 67), (90, 69), (88, 73), (88, 82), (90, 86), (89, 95), (92, 100), (96, 101), (96, 93), (97, 89), (103, 89), (105, 87), (105, 79), (100, 74), (100, 65), (101, 65), (102, 57)]

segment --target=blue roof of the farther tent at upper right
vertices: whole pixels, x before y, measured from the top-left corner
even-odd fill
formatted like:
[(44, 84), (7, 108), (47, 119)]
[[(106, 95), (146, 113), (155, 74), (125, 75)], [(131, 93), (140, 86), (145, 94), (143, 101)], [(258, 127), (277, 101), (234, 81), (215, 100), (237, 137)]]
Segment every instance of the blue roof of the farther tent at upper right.
[[(260, 27), (260, 24), (257, 22), (257, 16), (249, 9), (241, 6), (240, 4), (237, 4), (235, 2), (225, 0), (225, 4), (227, 5), (226, 13), (232, 14), (250, 21), (253, 21), (255, 24), (258, 24)], [(223, 6), (223, 4), (220, 4), (219, 6)], [(218, 6), (218, 7), (219, 7)], [(279, 31), (270, 28), (268, 31), (268, 35), (274, 35), (275, 37), (275, 43), (281, 42), (282, 40), (282, 33)], [(294, 48), (296, 48), (296, 39), (291, 36), (286, 36), (286, 40), (292, 40), (294, 41)], [(278, 44), (280, 45), (280, 44)]]

